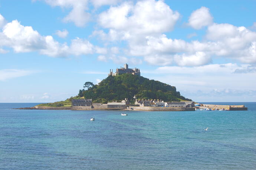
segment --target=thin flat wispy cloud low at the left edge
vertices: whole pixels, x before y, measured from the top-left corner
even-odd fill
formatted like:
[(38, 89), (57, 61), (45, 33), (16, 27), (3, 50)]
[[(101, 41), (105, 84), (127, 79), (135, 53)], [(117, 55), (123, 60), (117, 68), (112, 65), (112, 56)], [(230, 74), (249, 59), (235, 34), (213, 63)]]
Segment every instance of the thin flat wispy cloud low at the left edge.
[(30, 70), (18, 70), (18, 69), (3, 69), (0, 70), (0, 81), (6, 81), (16, 77), (23, 77), (29, 74), (35, 73), (35, 71)]

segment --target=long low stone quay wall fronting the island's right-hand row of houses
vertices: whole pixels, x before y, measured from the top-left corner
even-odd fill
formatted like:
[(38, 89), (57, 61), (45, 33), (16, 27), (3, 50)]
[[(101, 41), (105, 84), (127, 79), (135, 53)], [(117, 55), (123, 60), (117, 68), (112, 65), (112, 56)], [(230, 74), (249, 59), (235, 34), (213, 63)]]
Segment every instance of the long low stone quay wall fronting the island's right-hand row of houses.
[(143, 110), (143, 111), (195, 111), (193, 107), (150, 107), (150, 106), (130, 106), (133, 110)]

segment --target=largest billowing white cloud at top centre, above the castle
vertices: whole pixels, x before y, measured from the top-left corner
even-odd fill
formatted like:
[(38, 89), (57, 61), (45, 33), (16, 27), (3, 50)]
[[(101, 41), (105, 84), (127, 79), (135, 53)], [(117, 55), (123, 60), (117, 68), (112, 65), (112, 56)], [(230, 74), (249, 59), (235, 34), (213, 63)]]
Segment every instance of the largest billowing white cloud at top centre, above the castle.
[(144, 0), (112, 6), (99, 14), (98, 22), (104, 28), (124, 31), (124, 35), (152, 34), (171, 31), (179, 16), (163, 1)]

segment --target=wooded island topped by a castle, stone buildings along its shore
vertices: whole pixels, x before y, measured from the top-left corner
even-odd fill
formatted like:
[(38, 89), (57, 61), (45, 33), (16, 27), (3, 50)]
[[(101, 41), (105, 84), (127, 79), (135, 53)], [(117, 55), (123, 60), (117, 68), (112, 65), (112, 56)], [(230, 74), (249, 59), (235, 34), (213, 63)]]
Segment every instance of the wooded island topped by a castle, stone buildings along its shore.
[(85, 82), (75, 97), (19, 109), (195, 111), (196, 108), (195, 102), (181, 96), (176, 87), (142, 77), (140, 69), (129, 69), (125, 64), (115, 73), (110, 69), (108, 77), (98, 84)]

